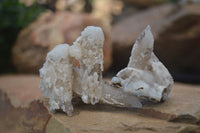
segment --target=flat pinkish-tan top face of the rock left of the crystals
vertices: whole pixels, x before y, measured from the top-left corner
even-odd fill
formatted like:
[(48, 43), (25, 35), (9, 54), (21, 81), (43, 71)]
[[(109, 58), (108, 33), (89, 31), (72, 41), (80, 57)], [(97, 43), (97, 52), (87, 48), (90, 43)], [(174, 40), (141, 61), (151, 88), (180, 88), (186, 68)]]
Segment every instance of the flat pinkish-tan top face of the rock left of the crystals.
[(1, 91), (8, 94), (10, 102), (16, 107), (42, 96), (39, 83), (40, 78), (33, 75), (0, 76)]

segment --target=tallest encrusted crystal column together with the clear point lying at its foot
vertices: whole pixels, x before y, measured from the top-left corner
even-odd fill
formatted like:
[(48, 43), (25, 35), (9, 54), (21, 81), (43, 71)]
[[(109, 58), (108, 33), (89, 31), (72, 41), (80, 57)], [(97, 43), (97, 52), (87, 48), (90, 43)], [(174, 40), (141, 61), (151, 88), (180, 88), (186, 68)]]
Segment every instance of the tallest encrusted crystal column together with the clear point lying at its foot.
[[(81, 47), (80, 68), (74, 68), (74, 93), (87, 104), (106, 103), (123, 107), (142, 107), (140, 101), (102, 79), (104, 34), (101, 28), (88, 26), (74, 45)], [(81, 88), (81, 89), (80, 89)]]

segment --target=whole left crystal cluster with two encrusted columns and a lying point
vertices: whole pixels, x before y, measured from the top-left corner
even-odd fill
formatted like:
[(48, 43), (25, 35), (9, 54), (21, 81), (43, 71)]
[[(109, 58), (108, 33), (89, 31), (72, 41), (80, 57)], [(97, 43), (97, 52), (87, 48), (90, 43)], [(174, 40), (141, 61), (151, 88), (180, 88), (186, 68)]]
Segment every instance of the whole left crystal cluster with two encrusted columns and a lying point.
[[(142, 107), (140, 101), (121, 88), (102, 79), (104, 34), (101, 28), (88, 26), (73, 43), (60, 44), (47, 54), (40, 69), (40, 88), (49, 98), (50, 111), (61, 109), (71, 116), (72, 98), (81, 97), (87, 104)], [(74, 58), (80, 67), (73, 67)]]

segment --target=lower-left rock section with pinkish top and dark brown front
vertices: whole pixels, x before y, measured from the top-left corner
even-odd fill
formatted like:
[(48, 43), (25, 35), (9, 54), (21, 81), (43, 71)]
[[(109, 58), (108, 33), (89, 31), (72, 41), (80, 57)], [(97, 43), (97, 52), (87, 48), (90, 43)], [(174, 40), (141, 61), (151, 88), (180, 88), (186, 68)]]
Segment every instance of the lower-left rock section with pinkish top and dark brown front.
[(44, 127), (51, 115), (43, 103), (36, 100), (41, 96), (38, 81), (39, 78), (35, 76), (0, 77), (1, 132), (45, 132)]

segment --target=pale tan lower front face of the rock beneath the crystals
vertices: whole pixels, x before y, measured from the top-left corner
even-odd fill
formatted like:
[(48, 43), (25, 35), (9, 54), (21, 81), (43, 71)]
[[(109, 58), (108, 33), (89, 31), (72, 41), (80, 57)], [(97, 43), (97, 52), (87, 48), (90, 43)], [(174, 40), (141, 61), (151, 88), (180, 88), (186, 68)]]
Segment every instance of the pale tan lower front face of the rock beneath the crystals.
[[(126, 111), (110, 111), (109, 109), (105, 111), (104, 107), (101, 110), (87, 108), (79, 111), (80, 113), (73, 117), (68, 117), (60, 113), (56, 113), (53, 116), (65, 127), (70, 127), (71, 132), (79, 133), (172, 133), (180, 130), (180, 128), (191, 126), (190, 124), (174, 124), (165, 120), (144, 117)], [(193, 125), (192, 127), (197, 126)]]

